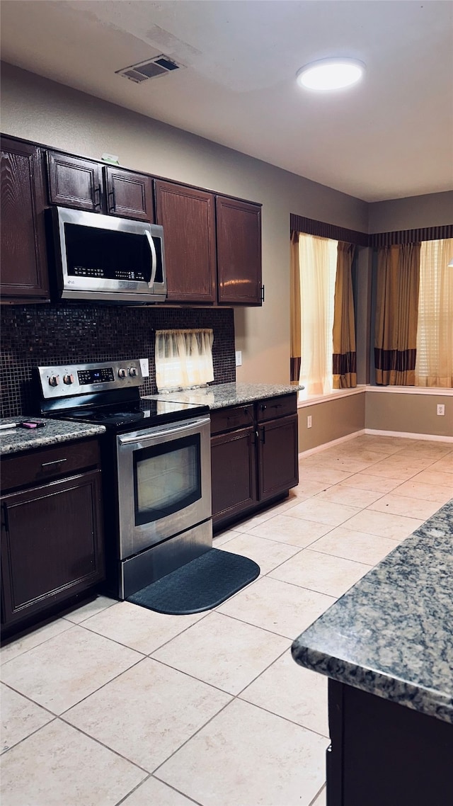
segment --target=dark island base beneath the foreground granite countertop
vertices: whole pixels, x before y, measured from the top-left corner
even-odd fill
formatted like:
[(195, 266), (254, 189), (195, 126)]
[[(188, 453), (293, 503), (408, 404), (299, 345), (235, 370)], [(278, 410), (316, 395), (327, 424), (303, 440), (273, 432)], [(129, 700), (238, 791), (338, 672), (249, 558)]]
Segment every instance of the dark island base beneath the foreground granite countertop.
[(447, 806), (453, 725), (329, 680), (327, 806)]

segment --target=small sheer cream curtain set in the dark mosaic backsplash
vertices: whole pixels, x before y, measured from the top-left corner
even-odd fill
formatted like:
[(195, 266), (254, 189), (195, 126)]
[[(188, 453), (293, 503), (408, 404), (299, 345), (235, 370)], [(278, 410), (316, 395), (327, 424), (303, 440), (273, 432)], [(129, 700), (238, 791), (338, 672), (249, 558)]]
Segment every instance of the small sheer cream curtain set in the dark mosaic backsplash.
[(156, 385), (168, 389), (214, 380), (212, 330), (156, 330)]

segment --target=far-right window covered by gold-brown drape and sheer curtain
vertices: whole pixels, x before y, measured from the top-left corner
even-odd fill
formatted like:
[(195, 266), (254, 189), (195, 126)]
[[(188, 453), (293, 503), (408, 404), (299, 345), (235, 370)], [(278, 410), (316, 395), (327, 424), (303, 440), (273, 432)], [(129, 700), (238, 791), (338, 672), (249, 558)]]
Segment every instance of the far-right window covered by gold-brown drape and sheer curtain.
[(452, 257), (453, 239), (378, 250), (377, 384), (453, 388)]

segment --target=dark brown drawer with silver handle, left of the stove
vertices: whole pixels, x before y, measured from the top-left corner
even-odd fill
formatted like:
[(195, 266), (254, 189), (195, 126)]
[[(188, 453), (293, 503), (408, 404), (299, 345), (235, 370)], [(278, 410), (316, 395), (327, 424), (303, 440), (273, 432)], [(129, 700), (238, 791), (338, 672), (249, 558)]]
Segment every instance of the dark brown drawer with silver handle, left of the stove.
[(32, 453), (2, 460), (2, 490), (24, 487), (58, 476), (68, 476), (99, 463), (97, 439), (65, 442)]

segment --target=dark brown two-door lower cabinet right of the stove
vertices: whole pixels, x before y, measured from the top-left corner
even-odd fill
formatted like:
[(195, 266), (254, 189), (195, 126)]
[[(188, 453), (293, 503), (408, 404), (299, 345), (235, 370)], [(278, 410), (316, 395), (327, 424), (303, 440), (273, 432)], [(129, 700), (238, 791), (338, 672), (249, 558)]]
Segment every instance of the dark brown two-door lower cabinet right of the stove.
[(296, 412), (296, 393), (211, 412), (214, 530), (297, 484)]

